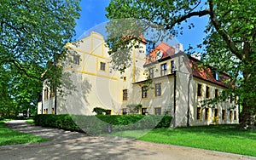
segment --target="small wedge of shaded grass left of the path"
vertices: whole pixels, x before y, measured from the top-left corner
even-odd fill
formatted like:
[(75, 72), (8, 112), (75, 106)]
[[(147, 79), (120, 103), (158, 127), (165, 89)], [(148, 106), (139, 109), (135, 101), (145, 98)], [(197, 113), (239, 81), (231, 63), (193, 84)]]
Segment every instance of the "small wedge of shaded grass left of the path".
[(5, 126), (3, 121), (0, 121), (0, 146), (18, 145), (26, 143), (36, 143), (41, 141), (49, 141), (32, 134), (23, 134)]

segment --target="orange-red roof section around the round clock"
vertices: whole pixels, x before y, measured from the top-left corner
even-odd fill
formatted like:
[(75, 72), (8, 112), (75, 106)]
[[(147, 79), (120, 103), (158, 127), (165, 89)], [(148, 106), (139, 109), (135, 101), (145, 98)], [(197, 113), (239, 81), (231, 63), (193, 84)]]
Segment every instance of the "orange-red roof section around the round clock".
[(166, 58), (172, 56), (175, 53), (175, 49), (172, 46), (162, 42), (146, 56), (146, 62), (144, 66), (147, 66), (157, 61), (155, 57), (158, 51), (162, 51), (163, 53), (163, 56), (161, 57), (160, 60), (165, 60)]

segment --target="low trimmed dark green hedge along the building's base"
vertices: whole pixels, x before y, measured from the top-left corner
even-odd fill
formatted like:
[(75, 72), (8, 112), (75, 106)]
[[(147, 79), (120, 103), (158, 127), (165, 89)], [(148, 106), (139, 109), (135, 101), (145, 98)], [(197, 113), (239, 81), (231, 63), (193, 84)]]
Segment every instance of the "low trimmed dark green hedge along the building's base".
[(34, 123), (43, 127), (67, 129), (86, 134), (111, 131), (168, 128), (172, 117), (163, 115), (46, 115), (34, 117)]

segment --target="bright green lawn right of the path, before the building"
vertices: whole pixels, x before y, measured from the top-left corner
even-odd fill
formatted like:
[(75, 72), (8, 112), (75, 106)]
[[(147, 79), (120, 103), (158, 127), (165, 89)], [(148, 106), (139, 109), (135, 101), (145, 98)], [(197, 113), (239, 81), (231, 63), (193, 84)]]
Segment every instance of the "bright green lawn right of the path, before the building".
[(256, 132), (234, 125), (116, 132), (111, 135), (256, 157)]

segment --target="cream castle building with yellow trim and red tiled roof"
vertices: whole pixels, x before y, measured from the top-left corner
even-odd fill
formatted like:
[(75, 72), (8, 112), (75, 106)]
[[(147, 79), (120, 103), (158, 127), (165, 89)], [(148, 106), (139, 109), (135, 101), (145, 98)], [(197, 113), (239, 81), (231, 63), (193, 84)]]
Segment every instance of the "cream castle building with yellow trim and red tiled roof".
[(113, 70), (101, 34), (91, 32), (78, 45), (67, 44), (73, 54), (65, 63), (63, 93), (51, 92), (46, 80), (38, 114), (94, 115), (93, 108), (102, 107), (112, 115), (171, 115), (172, 127), (238, 123), (236, 98), (204, 105), (229, 87), (228, 75), (201, 67), (182, 44), (162, 42), (148, 54), (146, 44), (131, 49), (124, 73)]

